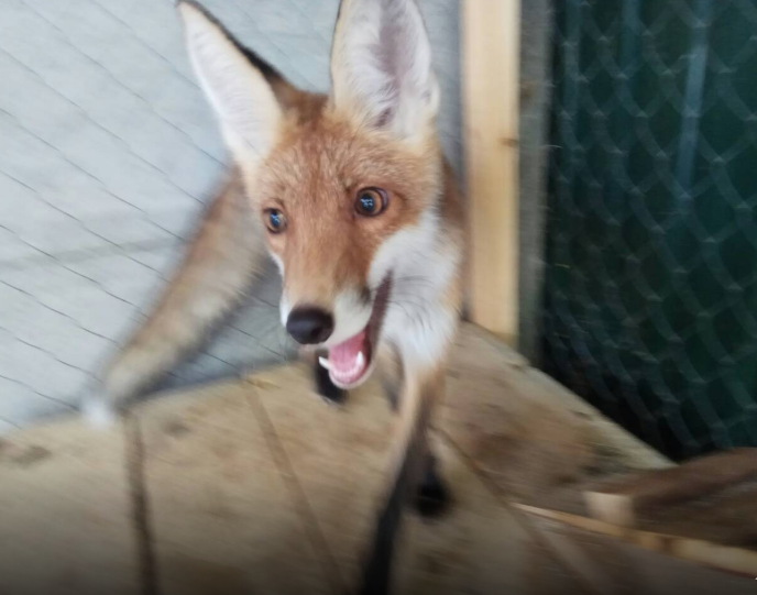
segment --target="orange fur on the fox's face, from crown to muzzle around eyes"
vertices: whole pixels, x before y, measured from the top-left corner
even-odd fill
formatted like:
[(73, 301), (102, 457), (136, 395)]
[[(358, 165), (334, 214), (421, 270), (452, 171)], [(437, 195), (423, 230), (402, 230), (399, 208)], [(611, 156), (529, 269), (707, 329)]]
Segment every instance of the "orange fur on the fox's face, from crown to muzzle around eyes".
[[(340, 288), (364, 287), (382, 241), (415, 224), (438, 200), (441, 155), (431, 142), (408, 147), (355, 128), (325, 101), (314, 109), (317, 97), (300, 104), (305, 110), (292, 108), (283, 139), (255, 170), (250, 199), (261, 213), (276, 208), (286, 216), (286, 233), (267, 241), (284, 263), (289, 299), (329, 307)], [(381, 217), (360, 217), (353, 209), (366, 187), (388, 192), (390, 208)]]

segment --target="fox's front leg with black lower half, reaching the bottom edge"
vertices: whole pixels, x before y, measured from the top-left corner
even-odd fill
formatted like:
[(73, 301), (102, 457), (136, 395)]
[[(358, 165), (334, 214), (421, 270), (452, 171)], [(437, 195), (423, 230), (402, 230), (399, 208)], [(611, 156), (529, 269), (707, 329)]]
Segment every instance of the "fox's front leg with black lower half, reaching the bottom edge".
[(392, 579), (394, 546), (402, 526), (403, 509), (417, 494), (425, 473), (436, 473), (428, 449), (428, 426), (443, 388), (443, 368), (405, 368), (399, 396), (398, 428), (391, 488), (380, 510), (367, 558), (363, 566), (360, 595), (386, 595)]

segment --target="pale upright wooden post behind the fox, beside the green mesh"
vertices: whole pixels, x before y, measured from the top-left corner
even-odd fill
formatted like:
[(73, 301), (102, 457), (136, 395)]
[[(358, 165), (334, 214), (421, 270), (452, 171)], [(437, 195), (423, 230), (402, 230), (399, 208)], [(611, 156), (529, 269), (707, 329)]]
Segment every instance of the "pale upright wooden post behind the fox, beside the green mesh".
[(462, 7), (470, 319), (518, 338), (519, 0)]

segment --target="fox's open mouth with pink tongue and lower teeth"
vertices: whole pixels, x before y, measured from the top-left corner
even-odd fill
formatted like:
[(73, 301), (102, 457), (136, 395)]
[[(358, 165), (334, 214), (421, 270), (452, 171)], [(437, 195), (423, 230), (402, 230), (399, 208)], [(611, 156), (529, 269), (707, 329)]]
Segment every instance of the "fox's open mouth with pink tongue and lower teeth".
[(318, 359), (320, 365), (329, 371), (331, 382), (338, 387), (353, 388), (370, 376), (373, 368), (373, 352), (378, 342), (391, 286), (392, 279), (387, 276), (376, 290), (373, 311), (365, 328), (329, 348), (328, 357)]

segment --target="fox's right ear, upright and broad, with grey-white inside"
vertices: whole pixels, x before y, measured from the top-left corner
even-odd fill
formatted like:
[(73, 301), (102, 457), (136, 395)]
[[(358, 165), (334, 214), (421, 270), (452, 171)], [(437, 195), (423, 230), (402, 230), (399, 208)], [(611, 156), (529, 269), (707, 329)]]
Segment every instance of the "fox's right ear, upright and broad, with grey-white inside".
[(439, 90), (415, 0), (342, 0), (331, 79), (338, 110), (401, 137), (427, 132)]

